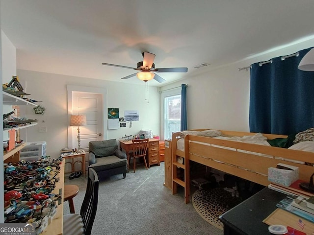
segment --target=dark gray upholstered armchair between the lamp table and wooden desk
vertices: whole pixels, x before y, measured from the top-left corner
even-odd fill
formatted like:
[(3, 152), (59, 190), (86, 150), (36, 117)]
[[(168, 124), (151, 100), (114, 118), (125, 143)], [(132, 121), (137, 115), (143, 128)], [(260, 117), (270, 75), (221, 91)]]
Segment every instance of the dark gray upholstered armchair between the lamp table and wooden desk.
[(118, 149), (115, 139), (90, 141), (88, 149), (89, 167), (92, 167), (101, 178), (116, 174), (123, 174), (123, 178), (126, 178), (127, 154)]

